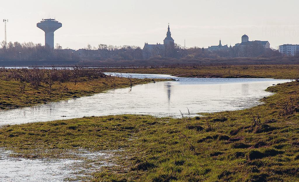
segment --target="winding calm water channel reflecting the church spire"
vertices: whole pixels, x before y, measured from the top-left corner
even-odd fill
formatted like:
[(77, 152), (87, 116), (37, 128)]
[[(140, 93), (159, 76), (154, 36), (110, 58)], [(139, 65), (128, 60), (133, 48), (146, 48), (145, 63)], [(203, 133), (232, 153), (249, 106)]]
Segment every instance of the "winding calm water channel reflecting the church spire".
[[(106, 73), (111, 74), (111, 73)], [(180, 117), (187, 113), (239, 110), (260, 104), (272, 84), (288, 80), (241, 78), (178, 78), (170, 75), (120, 74), (133, 78), (174, 78), (132, 88), (109, 90), (67, 101), (0, 111), (0, 125), (44, 122), (83, 116), (149, 114)]]

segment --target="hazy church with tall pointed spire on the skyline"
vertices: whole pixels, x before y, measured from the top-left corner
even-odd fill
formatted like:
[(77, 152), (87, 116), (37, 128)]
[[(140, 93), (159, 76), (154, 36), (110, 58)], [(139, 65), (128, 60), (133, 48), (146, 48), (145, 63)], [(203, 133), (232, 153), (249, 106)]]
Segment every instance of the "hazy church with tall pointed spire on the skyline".
[(171, 37), (170, 27), (168, 25), (168, 31), (165, 39), (163, 40), (163, 44), (148, 44), (144, 43), (143, 47), (143, 55), (145, 58), (160, 55), (167, 56), (171, 54), (171, 51), (174, 49), (174, 40)]

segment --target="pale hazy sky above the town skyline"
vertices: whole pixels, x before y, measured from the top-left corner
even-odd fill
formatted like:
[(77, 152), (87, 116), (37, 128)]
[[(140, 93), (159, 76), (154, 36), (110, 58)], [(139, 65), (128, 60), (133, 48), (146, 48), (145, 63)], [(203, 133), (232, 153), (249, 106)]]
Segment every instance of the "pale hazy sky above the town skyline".
[(246, 34), (277, 48), (299, 44), (298, 7), (298, 0), (10, 0), (1, 2), (0, 19), (8, 19), (7, 42), (44, 45), (36, 23), (55, 18), (62, 28), (55, 31), (54, 44), (72, 49), (163, 43), (168, 23), (181, 46), (207, 48), (219, 39), (233, 46)]

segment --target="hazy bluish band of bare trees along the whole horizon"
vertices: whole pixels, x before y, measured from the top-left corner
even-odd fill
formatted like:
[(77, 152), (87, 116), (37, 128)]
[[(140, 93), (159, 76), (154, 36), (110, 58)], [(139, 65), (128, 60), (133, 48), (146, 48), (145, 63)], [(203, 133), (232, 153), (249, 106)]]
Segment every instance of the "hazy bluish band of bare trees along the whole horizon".
[[(157, 49), (157, 50), (156, 50)], [(244, 48), (230, 48), (229, 50), (208, 51), (207, 49), (193, 47), (183, 48), (175, 44), (173, 48), (153, 49), (151, 54), (138, 46), (112, 46), (99, 44), (79, 49), (63, 49), (59, 44), (53, 50), (41, 44), (9, 42), (1, 43), (0, 60), (10, 61), (32, 61), (32, 60), (73, 60), (73, 61), (120, 61), (120, 60), (150, 60), (152, 58), (174, 58), (174, 59), (219, 59), (236, 57), (281, 57), (278, 50), (263, 48), (261, 45), (246, 46)]]

